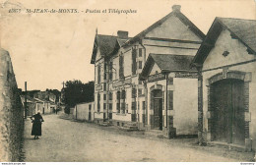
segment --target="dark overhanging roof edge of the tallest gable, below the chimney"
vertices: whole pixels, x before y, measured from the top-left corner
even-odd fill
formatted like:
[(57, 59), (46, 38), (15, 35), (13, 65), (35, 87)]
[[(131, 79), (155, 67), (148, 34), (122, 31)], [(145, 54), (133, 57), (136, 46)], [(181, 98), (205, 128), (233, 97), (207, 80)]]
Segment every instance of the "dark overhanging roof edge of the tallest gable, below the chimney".
[(148, 32), (150, 32), (151, 30), (153, 30), (156, 27), (159, 27), (163, 22), (165, 22), (171, 16), (177, 17), (183, 24), (190, 27), (190, 29), (192, 31), (194, 31), (194, 33), (196, 35), (198, 35), (200, 38), (202, 38), (202, 39), (205, 38), (205, 34), (198, 27), (196, 27), (186, 16), (184, 16), (180, 11), (172, 11), (171, 13), (169, 13), (168, 15), (166, 15), (165, 17), (160, 19), (158, 22), (156, 22), (152, 26), (144, 29), (143, 31), (141, 31), (140, 33), (135, 35), (133, 38), (129, 39), (127, 42), (125, 42), (125, 44), (123, 46), (128, 46), (129, 44), (132, 44), (132, 43), (140, 40), (141, 38), (145, 37), (145, 35)]

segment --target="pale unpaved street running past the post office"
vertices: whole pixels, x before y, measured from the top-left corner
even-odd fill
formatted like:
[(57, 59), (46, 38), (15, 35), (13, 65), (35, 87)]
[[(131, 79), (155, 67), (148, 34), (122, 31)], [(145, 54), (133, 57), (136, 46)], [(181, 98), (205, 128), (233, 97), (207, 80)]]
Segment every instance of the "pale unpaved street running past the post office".
[(42, 137), (33, 139), (26, 121), (26, 162), (250, 161), (252, 153), (193, 144), (195, 139), (149, 138), (142, 134), (44, 115)]

